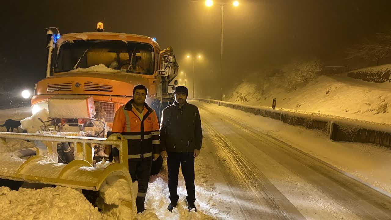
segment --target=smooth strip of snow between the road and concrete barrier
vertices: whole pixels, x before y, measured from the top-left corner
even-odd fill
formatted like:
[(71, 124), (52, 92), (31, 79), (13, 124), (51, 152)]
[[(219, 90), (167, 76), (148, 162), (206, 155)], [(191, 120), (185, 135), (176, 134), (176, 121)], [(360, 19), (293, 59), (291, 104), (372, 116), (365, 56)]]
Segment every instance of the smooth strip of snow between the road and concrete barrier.
[[(198, 105), (198, 104), (197, 104)], [(361, 181), (391, 194), (391, 150), (375, 144), (330, 141), (318, 130), (284, 124), (271, 118), (253, 115), (216, 104), (206, 104), (218, 112), (240, 121), (262, 133), (276, 137)], [(303, 140), (305, 137), (305, 140)]]

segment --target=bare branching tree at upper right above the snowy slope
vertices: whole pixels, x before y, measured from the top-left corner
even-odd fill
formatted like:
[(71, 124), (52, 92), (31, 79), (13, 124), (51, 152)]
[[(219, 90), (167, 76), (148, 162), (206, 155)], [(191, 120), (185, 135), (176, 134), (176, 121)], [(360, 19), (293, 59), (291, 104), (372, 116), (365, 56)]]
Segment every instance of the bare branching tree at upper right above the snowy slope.
[(391, 52), (391, 35), (379, 33), (373, 39), (366, 39), (364, 42), (353, 45), (346, 50), (348, 59), (364, 58), (375, 61), (378, 66), (380, 61), (388, 58)]

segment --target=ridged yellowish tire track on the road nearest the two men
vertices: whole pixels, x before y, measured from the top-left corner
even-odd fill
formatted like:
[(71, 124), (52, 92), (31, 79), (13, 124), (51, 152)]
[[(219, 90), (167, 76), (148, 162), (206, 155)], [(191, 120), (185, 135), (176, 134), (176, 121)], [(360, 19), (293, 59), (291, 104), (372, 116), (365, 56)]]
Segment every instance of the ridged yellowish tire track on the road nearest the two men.
[[(225, 178), (228, 179), (231, 190), (238, 198), (244, 213), (246, 213), (244, 209), (252, 209), (253, 212), (259, 213), (262, 219), (305, 219), (231, 141), (205, 121), (203, 125), (210, 133), (220, 169), (225, 171)], [(242, 188), (240, 192), (245, 191), (246, 195), (239, 195), (235, 188)], [(248, 204), (244, 204), (243, 200), (247, 200), (253, 207), (246, 207)]]

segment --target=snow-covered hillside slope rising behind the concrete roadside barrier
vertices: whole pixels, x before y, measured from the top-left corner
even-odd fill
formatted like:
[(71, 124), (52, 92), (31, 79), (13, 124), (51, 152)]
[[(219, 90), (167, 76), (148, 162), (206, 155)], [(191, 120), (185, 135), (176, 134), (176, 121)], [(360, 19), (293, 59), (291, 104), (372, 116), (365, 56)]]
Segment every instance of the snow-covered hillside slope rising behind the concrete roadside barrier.
[(262, 96), (262, 84), (255, 82), (248, 80), (238, 85), (227, 101), (271, 107), (276, 98), (277, 109), (391, 124), (390, 83), (366, 82), (346, 74), (327, 75), (287, 92), (278, 81), (267, 81)]

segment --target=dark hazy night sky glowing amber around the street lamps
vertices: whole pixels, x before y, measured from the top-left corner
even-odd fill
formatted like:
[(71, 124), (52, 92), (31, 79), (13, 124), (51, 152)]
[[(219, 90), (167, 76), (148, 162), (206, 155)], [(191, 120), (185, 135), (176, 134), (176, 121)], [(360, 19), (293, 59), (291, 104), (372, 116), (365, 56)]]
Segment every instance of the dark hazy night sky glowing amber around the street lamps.
[[(226, 1), (230, 3), (230, 1)], [(182, 71), (192, 73), (188, 53), (202, 54), (196, 74), (213, 92), (220, 70), (221, 8), (204, 1), (3, 1), (0, 13), (0, 75), (34, 85), (45, 76), (45, 31), (106, 32), (155, 37), (172, 46)], [(319, 58), (326, 65), (349, 63), (346, 47), (390, 28), (389, 0), (242, 0), (224, 8), (223, 74), (230, 87), (245, 72), (283, 65), (294, 58)], [(6, 61), (5, 61), (6, 60)], [(3, 62), (2, 62), (3, 61)], [(5, 63), (4, 63), (5, 62)], [(7, 84), (10, 85), (10, 84)]]

